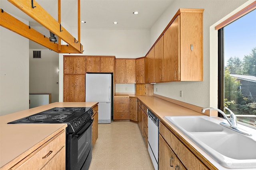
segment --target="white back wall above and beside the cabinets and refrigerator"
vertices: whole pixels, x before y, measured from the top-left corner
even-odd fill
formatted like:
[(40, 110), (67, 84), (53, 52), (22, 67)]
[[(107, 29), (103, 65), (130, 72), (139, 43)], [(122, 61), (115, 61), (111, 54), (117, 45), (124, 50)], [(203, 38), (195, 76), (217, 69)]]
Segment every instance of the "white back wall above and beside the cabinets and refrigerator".
[[(77, 35), (77, 30), (73, 31), (74, 32), (71, 34)], [(84, 48), (84, 53), (79, 55), (112, 55), (116, 56), (116, 58), (144, 57), (150, 49), (150, 31), (81, 29), (81, 43)], [(59, 55), (59, 66), (59, 101), (61, 102), (63, 101), (63, 54)], [(128, 89), (129, 92), (134, 93), (135, 85), (128, 85)], [(118, 92), (120, 91), (127, 92), (128, 90), (125, 90), (125, 87), (120, 85), (118, 86)]]

